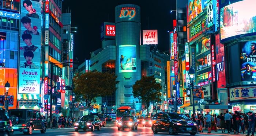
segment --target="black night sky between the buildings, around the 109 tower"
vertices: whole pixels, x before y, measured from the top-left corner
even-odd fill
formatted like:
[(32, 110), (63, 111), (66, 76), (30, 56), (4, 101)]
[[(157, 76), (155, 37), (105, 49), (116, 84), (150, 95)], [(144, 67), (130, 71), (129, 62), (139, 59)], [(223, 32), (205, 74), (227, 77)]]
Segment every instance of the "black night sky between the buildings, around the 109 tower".
[(176, 9), (176, 0), (64, 0), (62, 12), (71, 9), (71, 27), (78, 27), (74, 34), (74, 58), (78, 58), (79, 64), (101, 48), (101, 24), (115, 22), (114, 9), (120, 4), (139, 5), (141, 33), (142, 30), (158, 30), (158, 51), (169, 50), (167, 31), (173, 30), (176, 12), (170, 13), (170, 10)]

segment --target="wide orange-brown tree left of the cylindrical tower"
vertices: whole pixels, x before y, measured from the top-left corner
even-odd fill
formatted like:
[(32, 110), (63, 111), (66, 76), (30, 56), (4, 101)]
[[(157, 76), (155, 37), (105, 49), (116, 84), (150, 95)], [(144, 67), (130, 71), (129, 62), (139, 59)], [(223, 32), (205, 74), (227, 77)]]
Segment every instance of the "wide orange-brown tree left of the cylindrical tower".
[(110, 73), (89, 72), (78, 73), (74, 76), (74, 92), (87, 100), (87, 107), (96, 102), (96, 97), (110, 96), (116, 92), (117, 76)]

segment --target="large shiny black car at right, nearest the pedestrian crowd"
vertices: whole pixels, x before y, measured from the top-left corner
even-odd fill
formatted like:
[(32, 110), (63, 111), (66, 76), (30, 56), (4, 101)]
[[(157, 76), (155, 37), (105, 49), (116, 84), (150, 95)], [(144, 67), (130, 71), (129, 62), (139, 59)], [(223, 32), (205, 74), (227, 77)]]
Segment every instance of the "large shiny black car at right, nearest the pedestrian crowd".
[(156, 120), (151, 129), (153, 133), (169, 132), (170, 135), (176, 133), (189, 133), (196, 135), (196, 123), (188, 117), (179, 113), (159, 112), (153, 117)]

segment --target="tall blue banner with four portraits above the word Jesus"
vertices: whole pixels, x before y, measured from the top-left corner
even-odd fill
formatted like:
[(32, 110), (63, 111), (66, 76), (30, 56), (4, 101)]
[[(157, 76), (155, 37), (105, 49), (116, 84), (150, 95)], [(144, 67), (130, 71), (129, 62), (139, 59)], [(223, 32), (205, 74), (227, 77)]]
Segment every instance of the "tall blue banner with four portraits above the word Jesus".
[[(41, 0), (21, 0), (19, 94), (40, 94)], [(31, 13), (33, 11), (33, 13)]]

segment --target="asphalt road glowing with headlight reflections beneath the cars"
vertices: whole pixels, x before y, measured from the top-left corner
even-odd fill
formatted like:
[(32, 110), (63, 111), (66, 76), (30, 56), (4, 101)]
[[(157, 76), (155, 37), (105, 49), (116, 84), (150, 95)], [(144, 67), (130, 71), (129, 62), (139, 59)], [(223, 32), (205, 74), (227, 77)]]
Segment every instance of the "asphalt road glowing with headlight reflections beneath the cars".
[[(14, 136), (24, 136), (23, 132), (14, 132)], [(139, 124), (138, 130), (132, 131), (132, 129), (117, 130), (116, 124), (114, 121), (107, 122), (106, 127), (102, 127), (101, 131), (95, 129), (94, 132), (79, 130), (75, 132), (74, 127), (72, 128), (61, 128), (61, 129), (47, 129), (46, 133), (42, 134), (40, 131), (33, 131), (33, 136), (168, 136), (169, 133), (158, 132), (154, 134), (151, 130), (151, 127), (142, 127)], [(196, 136), (205, 136), (206, 133), (196, 134)], [(220, 134), (212, 134), (213, 136), (223, 136)], [(190, 136), (189, 134), (177, 134), (176, 136)], [(211, 136), (211, 135), (209, 135)], [(226, 135), (233, 136), (233, 135)]]

